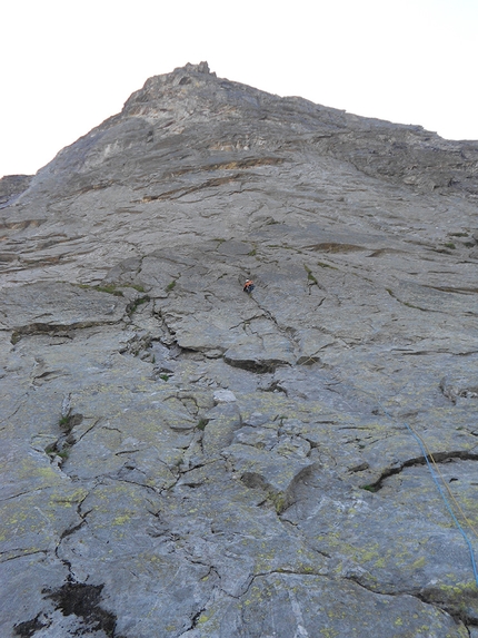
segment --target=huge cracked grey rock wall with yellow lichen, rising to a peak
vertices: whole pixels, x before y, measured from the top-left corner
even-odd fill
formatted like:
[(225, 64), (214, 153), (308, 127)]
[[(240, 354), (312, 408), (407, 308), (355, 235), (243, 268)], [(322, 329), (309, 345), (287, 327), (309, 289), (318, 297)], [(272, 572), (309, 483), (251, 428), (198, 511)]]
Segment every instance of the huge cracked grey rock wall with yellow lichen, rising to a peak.
[(478, 143), (202, 62), (3, 186), (2, 637), (478, 636)]

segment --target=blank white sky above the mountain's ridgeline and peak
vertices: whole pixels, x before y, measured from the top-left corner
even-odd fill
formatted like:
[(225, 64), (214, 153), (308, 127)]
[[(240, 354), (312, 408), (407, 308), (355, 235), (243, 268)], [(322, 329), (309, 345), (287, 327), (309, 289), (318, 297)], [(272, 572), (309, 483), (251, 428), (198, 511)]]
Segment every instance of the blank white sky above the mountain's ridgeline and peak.
[(33, 174), (155, 75), (219, 77), (478, 139), (478, 0), (3, 0), (0, 177)]

